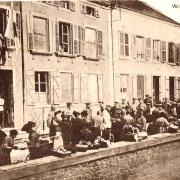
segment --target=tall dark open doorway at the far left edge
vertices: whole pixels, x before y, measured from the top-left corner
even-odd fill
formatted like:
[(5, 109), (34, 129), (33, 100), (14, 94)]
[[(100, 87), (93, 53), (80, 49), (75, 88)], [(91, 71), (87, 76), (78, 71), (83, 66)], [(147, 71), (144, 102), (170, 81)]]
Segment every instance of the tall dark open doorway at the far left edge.
[(11, 70), (0, 70), (0, 97), (4, 100), (1, 104), (4, 111), (1, 111), (0, 124), (2, 127), (14, 127), (13, 73)]

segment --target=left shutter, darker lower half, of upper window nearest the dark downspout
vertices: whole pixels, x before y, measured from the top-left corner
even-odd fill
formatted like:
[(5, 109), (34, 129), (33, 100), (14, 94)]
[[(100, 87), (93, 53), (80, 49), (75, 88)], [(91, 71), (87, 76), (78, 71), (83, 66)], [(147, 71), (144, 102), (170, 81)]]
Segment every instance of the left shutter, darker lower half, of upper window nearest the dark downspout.
[(28, 34), (28, 49), (33, 50), (34, 48), (34, 37), (33, 37), (33, 16), (27, 14), (27, 34)]

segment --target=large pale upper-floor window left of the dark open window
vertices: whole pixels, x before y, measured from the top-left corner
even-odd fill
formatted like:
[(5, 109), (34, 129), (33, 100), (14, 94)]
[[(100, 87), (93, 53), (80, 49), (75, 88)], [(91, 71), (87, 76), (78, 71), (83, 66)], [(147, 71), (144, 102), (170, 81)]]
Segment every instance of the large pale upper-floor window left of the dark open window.
[(49, 22), (46, 18), (33, 16), (33, 49), (49, 51)]

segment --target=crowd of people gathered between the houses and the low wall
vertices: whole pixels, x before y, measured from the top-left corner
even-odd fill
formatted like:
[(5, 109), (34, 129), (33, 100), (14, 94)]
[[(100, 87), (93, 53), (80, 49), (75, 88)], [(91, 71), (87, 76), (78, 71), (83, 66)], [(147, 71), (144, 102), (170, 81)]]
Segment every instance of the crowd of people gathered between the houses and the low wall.
[[(114, 106), (99, 102), (96, 115), (90, 103), (81, 111), (73, 110), (72, 103), (67, 103), (65, 110), (51, 106), (47, 118), (49, 139), (53, 142), (52, 149), (59, 153), (68, 153), (73, 149), (88, 149), (108, 147), (111, 142), (139, 141), (148, 135), (170, 132), (175, 133), (180, 127), (180, 100), (152, 103), (152, 98), (133, 98), (130, 105), (115, 101)], [(29, 137), (28, 144), (30, 159), (40, 157), (40, 135), (35, 130), (35, 122), (26, 123), (22, 131)], [(14, 145), (18, 132), (13, 129), (9, 135), (0, 130), (0, 156), (7, 155)], [(10, 159), (1, 160), (3, 165), (9, 164)]]

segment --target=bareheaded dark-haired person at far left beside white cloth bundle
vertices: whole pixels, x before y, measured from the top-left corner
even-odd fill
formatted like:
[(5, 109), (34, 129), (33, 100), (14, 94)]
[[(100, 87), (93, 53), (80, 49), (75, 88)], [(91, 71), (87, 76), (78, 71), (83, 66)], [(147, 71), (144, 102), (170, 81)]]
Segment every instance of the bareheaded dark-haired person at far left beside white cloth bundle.
[(11, 164), (10, 152), (13, 148), (15, 148), (14, 139), (17, 135), (17, 130), (12, 129), (10, 130), (9, 135), (4, 138), (1, 145), (1, 154), (3, 155), (3, 157), (1, 159), (0, 165)]

